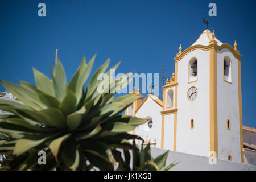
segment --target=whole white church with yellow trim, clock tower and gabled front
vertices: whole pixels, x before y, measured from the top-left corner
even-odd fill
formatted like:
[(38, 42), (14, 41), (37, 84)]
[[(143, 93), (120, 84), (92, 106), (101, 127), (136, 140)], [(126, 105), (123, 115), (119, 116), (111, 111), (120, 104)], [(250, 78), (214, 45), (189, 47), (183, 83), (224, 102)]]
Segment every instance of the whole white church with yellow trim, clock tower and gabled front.
[(208, 29), (184, 51), (180, 45), (163, 101), (148, 94), (126, 109), (126, 115), (148, 120), (131, 133), (151, 147), (245, 163), (241, 57), (236, 41), (234, 47), (222, 43)]

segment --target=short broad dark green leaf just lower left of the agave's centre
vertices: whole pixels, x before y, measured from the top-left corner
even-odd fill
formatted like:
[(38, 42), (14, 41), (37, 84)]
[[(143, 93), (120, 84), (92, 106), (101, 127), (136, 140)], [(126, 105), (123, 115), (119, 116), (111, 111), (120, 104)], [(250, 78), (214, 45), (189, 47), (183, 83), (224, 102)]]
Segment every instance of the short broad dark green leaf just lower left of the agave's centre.
[(54, 126), (59, 129), (67, 128), (67, 122), (64, 115), (61, 113), (59, 109), (56, 108), (48, 108), (44, 110), (40, 110), (37, 112), (40, 117), (44, 118), (44, 122), (48, 126)]

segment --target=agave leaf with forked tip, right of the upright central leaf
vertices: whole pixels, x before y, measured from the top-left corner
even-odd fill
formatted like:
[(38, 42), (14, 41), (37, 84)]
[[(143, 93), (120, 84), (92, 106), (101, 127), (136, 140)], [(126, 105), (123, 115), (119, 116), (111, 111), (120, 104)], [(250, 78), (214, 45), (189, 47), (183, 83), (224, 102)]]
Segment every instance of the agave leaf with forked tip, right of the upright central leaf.
[(81, 64), (79, 66), (79, 69), (77, 69), (75, 75), (72, 77), (71, 81), (68, 84), (68, 88), (71, 89), (76, 97), (77, 102), (82, 97), (82, 91), (84, 88), (84, 84), (87, 80), (87, 78), (90, 75), (90, 72), (92, 71), (92, 66), (94, 63), (96, 55), (92, 57), (92, 59), (89, 61), (88, 65), (86, 65), (85, 57), (82, 58)]

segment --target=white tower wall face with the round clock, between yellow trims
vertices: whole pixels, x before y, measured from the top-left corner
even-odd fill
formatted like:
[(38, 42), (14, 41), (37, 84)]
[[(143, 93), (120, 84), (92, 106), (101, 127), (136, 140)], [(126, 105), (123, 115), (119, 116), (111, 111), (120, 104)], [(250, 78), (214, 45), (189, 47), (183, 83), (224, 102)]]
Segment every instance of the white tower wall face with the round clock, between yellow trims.
[[(197, 81), (188, 84), (188, 63), (197, 58)], [(209, 51), (196, 49), (179, 61), (177, 93), (177, 146), (176, 150), (189, 154), (208, 156), (210, 149), (209, 134)], [(189, 101), (188, 89), (195, 86), (197, 98)], [(190, 129), (194, 120), (195, 129)]]

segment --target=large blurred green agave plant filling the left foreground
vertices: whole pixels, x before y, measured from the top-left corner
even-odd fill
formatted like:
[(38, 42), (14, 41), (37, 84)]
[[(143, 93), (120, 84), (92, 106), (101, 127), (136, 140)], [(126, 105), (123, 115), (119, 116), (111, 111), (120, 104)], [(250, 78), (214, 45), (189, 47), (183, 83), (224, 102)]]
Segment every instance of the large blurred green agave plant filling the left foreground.
[[(53, 72), (50, 69), (51, 79), (33, 68), (36, 86), (25, 81), (17, 85), (1, 80), (22, 102), (0, 100), (0, 109), (10, 112), (0, 115), (0, 132), (14, 138), (0, 144), (0, 153), (12, 155), (10, 169), (88, 170), (96, 166), (113, 170), (112, 150), (138, 150), (129, 140), (141, 138), (127, 131), (146, 119), (121, 113), (140, 97), (131, 93), (114, 98), (114, 93), (110, 93), (113, 87), (117, 92), (117, 88), (128, 84), (127, 75), (113, 80), (109, 70), (106, 72), (109, 79), (98, 80), (110, 59), (97, 69), (84, 89), (95, 57), (88, 64), (83, 57), (68, 84), (59, 59)], [(109, 87), (99, 93), (97, 87), (102, 84)], [(46, 165), (38, 164), (39, 151), (45, 152)]]

